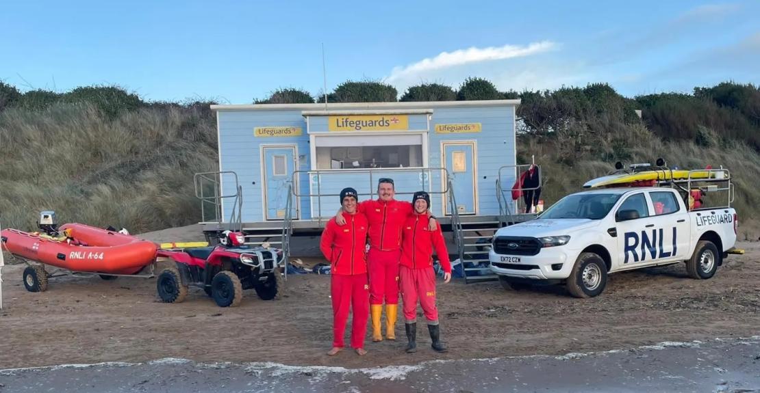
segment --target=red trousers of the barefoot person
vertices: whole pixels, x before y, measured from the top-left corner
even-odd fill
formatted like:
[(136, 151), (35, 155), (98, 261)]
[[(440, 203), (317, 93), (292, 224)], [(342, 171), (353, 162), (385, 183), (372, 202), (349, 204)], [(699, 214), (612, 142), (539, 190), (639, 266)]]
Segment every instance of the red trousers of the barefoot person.
[(367, 275), (331, 275), (330, 294), (333, 303), (333, 347), (344, 347), (343, 336), (348, 311), (353, 308), (351, 347), (363, 348), (369, 319), (369, 284)]

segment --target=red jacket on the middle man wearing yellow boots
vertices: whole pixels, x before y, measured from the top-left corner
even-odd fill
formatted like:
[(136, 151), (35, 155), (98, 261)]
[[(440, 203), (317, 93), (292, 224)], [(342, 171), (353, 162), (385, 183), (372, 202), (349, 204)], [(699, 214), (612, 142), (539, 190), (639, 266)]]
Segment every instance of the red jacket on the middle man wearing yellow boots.
[(369, 245), (382, 251), (401, 248), (401, 225), (412, 213), (412, 204), (401, 200), (366, 200), (359, 203), (360, 213), (369, 222)]

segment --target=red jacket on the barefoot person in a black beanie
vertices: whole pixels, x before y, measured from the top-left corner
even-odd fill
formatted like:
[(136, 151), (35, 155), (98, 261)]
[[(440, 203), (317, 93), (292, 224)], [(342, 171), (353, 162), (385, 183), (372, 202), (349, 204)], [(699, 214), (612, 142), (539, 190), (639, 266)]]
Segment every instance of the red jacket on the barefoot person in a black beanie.
[(331, 219), (322, 232), (319, 250), (330, 261), (334, 275), (359, 275), (367, 272), (367, 218), (361, 213), (341, 212), (346, 225)]

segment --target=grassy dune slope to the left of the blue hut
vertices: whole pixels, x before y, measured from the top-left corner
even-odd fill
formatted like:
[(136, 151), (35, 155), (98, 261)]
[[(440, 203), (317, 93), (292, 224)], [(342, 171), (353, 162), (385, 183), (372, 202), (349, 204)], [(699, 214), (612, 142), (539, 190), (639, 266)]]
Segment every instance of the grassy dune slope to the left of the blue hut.
[(192, 107), (141, 108), (110, 119), (90, 105), (0, 112), (0, 220), (138, 233), (198, 222), (195, 172), (217, 168), (216, 124)]

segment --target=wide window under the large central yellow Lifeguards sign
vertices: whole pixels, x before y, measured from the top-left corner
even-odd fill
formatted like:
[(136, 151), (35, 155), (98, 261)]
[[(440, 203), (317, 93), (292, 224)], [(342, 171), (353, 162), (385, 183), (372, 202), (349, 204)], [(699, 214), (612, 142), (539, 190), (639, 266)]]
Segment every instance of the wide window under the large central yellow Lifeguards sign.
[(423, 166), (420, 134), (318, 137), (315, 144), (317, 169)]

